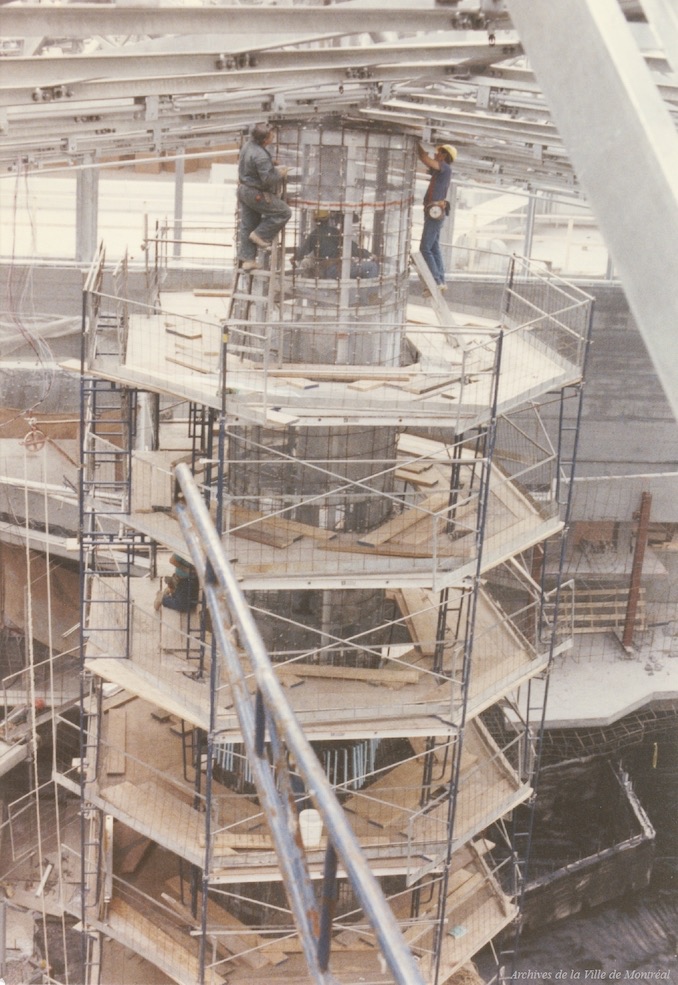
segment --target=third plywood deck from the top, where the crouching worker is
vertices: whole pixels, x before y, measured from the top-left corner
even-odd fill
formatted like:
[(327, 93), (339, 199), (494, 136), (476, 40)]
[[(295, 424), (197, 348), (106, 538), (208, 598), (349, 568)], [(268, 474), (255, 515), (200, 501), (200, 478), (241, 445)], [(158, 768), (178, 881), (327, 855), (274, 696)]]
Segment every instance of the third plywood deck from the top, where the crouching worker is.
[[(207, 729), (207, 680), (194, 679), (194, 667), (185, 660), (186, 634), (179, 629), (182, 617), (170, 610), (146, 611), (143, 604), (149, 604), (156, 589), (148, 579), (134, 579), (133, 592), (137, 588), (141, 596), (138, 601), (135, 599), (133, 610), (131, 659), (88, 658), (86, 667), (150, 706), (163, 708), (178, 720)], [(393, 597), (409, 627), (411, 650), (401, 649), (392, 655), (385, 652), (382, 666), (375, 668), (354, 670), (294, 661), (275, 665), (288, 700), (309, 736), (331, 738), (337, 731), (354, 738), (440, 735), (449, 731), (445, 722), (453, 721), (456, 714), (455, 694), (460, 686), (463, 661), (463, 646), (456, 640), (459, 627), (454, 604), (448, 614), (442, 676), (437, 676), (433, 673), (433, 654), (439, 596), (408, 589), (396, 590)], [(514, 687), (517, 681), (540, 672), (545, 659), (516, 634), (506, 616), (481, 591), (469, 684), (470, 714), (477, 714), (491, 696), (496, 700), (498, 694)], [(339, 680), (340, 689), (336, 686)], [(386, 689), (387, 701), (375, 685)], [(224, 738), (238, 741), (238, 723), (227, 688), (221, 692), (220, 708), (219, 724)]]

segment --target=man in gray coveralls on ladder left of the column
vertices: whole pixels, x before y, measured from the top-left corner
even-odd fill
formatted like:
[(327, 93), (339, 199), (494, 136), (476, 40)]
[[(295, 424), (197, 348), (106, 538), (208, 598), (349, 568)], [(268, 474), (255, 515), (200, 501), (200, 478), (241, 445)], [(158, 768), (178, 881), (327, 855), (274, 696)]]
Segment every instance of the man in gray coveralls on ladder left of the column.
[(260, 266), (257, 247), (268, 249), (292, 215), (289, 205), (279, 197), (288, 169), (276, 167), (267, 150), (274, 136), (275, 130), (268, 123), (256, 123), (240, 152), (238, 259), (243, 270), (256, 270)]

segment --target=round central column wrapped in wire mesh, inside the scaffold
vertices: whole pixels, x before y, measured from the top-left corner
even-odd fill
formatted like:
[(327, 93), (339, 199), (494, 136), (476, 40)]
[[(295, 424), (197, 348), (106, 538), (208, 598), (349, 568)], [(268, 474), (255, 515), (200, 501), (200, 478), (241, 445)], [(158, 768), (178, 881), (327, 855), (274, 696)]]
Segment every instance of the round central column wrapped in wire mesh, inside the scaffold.
[[(285, 121), (276, 141), (273, 156), (290, 168), (287, 199), (295, 212), (283, 247), (281, 366), (407, 364), (415, 139), (330, 118)], [(393, 426), (236, 427), (229, 431), (228, 493), (249, 509), (364, 533), (400, 506), (397, 439)], [(375, 648), (393, 637), (383, 589), (311, 587), (249, 598), (262, 611), (274, 659), (308, 650), (314, 662), (377, 666)], [(360, 645), (343, 642), (350, 638)]]

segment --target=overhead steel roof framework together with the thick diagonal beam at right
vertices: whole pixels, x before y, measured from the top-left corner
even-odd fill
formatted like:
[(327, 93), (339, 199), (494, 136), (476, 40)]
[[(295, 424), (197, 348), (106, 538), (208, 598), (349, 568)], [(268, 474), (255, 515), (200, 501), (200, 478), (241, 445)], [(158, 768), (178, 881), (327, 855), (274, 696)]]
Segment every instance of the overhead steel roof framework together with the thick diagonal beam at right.
[(678, 410), (665, 327), (678, 307), (669, 0), (558, 2), (538, 15), (527, 0), (18, 3), (3, 32), (5, 176), (223, 155), (252, 119), (332, 112), (453, 139), (459, 178), (588, 198)]

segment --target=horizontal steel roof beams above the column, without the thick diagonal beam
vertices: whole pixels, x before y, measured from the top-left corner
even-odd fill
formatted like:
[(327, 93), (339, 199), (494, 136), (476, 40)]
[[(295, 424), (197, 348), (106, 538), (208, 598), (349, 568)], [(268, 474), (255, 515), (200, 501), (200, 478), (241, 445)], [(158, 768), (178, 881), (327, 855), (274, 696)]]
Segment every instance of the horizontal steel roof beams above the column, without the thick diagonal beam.
[[(626, 11), (638, 15), (637, 5)], [(253, 116), (355, 111), (424, 138), (452, 134), (460, 176), (578, 191), (502, 0), (12, 4), (3, 33), (4, 168), (190, 154), (223, 145)], [(654, 54), (672, 108), (678, 90)]]

